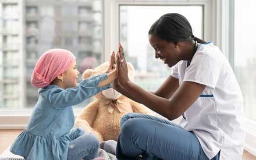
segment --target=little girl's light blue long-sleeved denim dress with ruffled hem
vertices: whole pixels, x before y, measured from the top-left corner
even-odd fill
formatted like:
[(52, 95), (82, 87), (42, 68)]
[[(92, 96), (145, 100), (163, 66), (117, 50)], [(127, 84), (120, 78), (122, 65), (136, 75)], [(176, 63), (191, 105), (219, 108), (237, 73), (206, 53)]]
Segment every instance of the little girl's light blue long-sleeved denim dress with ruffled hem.
[(107, 77), (106, 74), (93, 76), (66, 90), (56, 85), (40, 88), (29, 124), (16, 138), (10, 151), (27, 160), (67, 159), (72, 140), (70, 130), (74, 125), (72, 105), (111, 88), (111, 85), (98, 87), (98, 83)]

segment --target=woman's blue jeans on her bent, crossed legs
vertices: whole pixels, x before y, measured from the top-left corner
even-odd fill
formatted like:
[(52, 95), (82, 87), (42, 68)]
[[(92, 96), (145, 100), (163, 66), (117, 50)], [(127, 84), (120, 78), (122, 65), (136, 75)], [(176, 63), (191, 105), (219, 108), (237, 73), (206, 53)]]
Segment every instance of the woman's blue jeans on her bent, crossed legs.
[[(197, 137), (169, 120), (141, 113), (122, 117), (116, 157), (118, 159), (209, 160)], [(220, 153), (220, 152), (219, 152)], [(217, 154), (214, 160), (219, 159)]]

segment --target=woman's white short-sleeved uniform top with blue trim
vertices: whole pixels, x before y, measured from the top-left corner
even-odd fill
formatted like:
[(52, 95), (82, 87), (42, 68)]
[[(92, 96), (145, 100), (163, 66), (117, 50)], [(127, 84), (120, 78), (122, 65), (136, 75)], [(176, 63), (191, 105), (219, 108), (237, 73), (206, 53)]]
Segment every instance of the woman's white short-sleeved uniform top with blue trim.
[(243, 97), (232, 67), (212, 42), (197, 47), (190, 65), (180, 61), (171, 74), (206, 87), (183, 114), (180, 126), (193, 131), (209, 159), (221, 150), (220, 160), (239, 160), (243, 155)]

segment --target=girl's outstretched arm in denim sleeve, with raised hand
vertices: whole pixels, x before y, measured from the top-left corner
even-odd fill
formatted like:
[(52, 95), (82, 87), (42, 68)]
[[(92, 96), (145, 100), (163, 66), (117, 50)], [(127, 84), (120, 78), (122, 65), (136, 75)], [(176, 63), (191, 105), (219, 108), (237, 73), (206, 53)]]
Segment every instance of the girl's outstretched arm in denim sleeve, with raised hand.
[(116, 69), (114, 66), (115, 54), (112, 52), (111, 61), (106, 74), (92, 76), (85, 79), (74, 88), (63, 90), (58, 88), (47, 94), (49, 103), (55, 108), (63, 108), (65, 106), (76, 105), (85, 99), (93, 97), (102, 90), (111, 88), (111, 82), (116, 79)]

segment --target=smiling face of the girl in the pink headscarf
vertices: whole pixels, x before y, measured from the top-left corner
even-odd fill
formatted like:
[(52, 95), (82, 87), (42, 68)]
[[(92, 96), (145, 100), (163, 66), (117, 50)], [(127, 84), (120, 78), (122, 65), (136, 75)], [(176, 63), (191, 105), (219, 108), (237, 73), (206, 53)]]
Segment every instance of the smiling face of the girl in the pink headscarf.
[(63, 84), (65, 88), (72, 88), (77, 86), (77, 78), (79, 75), (79, 71), (76, 67), (76, 61), (73, 61), (72, 65), (70, 65), (67, 70), (63, 73)]

